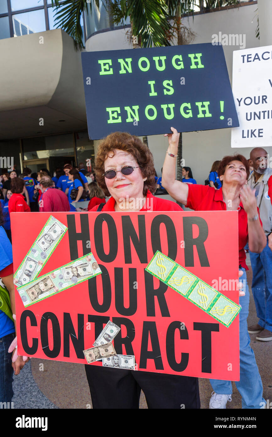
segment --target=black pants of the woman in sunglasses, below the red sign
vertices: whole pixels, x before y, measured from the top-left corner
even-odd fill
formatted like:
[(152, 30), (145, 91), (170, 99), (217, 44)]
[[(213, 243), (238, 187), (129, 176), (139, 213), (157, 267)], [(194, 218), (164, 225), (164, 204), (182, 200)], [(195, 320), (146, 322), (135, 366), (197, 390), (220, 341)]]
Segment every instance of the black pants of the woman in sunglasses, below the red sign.
[(138, 409), (141, 389), (148, 408), (200, 408), (198, 379), (85, 364), (93, 408)]

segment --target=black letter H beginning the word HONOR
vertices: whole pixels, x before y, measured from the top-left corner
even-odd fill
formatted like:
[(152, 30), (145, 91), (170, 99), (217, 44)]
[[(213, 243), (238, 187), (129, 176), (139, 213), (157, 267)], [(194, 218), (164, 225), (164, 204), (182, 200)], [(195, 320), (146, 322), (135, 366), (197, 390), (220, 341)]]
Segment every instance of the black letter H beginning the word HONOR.
[(77, 241), (82, 241), (83, 255), (90, 253), (91, 249), (87, 242), (90, 241), (90, 230), (88, 214), (80, 214), (81, 232), (76, 232), (75, 214), (67, 214), (69, 248), (71, 260), (76, 260), (79, 257), (77, 249)]

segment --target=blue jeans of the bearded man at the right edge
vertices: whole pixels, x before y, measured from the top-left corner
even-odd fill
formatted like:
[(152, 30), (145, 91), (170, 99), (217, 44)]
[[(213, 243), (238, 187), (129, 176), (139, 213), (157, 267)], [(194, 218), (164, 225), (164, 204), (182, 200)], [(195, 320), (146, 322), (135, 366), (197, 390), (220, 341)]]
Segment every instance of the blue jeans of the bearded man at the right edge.
[(252, 293), (258, 324), (272, 331), (272, 250), (268, 246), (261, 253), (250, 254), (252, 267)]

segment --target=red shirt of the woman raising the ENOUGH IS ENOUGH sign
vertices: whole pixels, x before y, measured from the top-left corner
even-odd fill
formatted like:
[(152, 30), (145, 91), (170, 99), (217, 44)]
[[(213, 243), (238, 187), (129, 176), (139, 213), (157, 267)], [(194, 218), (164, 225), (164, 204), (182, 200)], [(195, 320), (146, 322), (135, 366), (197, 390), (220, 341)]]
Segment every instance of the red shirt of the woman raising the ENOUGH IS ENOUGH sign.
[[(223, 201), (222, 188), (215, 190), (213, 187), (205, 185), (188, 185), (188, 188), (187, 208), (195, 211), (227, 211), (227, 206)], [(239, 264), (248, 270), (244, 251), (244, 246), (248, 242), (248, 215), (244, 211), (242, 202), (238, 207), (238, 237)]]

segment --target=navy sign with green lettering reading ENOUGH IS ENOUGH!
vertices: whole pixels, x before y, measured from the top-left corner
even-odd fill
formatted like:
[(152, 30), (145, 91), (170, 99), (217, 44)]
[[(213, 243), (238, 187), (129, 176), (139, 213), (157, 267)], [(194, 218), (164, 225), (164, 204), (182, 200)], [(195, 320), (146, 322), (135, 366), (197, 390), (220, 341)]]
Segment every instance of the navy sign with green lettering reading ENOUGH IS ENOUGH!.
[(239, 126), (221, 45), (82, 53), (90, 139)]

